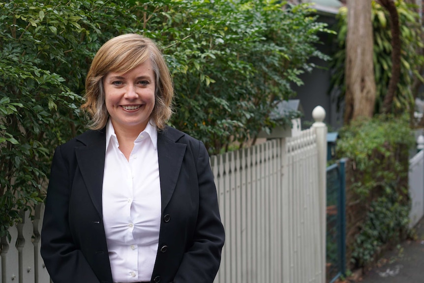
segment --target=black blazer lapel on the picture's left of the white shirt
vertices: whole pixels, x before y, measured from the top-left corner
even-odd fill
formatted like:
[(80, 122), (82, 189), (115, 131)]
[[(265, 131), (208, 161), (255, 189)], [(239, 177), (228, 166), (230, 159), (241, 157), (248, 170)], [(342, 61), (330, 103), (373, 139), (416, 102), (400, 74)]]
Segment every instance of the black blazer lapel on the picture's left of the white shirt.
[(102, 217), (102, 187), (106, 152), (106, 130), (89, 131), (77, 138), (86, 146), (75, 149), (78, 166), (91, 200)]

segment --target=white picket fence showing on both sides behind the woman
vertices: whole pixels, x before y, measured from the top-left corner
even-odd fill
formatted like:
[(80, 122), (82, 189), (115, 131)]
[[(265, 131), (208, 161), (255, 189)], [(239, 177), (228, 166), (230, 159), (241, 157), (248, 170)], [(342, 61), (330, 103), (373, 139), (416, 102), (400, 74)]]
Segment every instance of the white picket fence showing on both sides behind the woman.
[[(295, 137), (211, 157), (226, 231), (214, 283), (325, 283), (325, 111)], [(39, 253), (43, 207), (1, 238), (1, 283), (49, 283)], [(16, 244), (16, 245), (15, 245)]]

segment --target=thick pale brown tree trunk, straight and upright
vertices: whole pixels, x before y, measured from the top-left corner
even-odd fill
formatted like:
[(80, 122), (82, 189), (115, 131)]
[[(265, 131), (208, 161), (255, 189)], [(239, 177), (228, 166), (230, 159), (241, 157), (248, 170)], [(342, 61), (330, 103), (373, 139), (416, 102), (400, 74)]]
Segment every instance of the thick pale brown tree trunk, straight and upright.
[(347, 1), (344, 122), (372, 117), (375, 103), (371, 0)]

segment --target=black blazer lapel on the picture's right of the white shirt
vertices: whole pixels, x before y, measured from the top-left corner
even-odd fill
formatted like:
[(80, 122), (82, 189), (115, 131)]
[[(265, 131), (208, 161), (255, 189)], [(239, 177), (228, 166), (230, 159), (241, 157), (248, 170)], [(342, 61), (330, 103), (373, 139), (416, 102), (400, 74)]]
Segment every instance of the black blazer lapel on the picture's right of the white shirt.
[(172, 128), (167, 128), (164, 132), (159, 132), (157, 135), (162, 213), (171, 199), (180, 175), (182, 159), (187, 146), (176, 141), (182, 135), (182, 132), (173, 131)]

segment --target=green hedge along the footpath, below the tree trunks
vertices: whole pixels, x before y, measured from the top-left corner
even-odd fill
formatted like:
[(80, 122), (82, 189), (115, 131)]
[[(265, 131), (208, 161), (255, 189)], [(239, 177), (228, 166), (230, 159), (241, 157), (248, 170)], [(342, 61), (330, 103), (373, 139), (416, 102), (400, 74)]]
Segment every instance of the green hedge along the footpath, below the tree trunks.
[(337, 155), (353, 163), (351, 190), (367, 209), (351, 247), (362, 267), (385, 245), (406, 235), (409, 222), (409, 149), (415, 144), (407, 114), (354, 121), (340, 131)]

